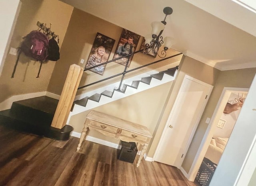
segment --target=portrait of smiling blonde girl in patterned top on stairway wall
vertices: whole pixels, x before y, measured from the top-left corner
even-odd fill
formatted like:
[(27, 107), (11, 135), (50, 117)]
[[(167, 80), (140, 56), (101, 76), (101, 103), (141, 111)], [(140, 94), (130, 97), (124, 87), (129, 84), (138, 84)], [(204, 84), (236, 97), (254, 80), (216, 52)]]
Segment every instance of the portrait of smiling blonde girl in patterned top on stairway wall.
[[(100, 65), (101, 63), (108, 61), (115, 41), (116, 40), (107, 37), (106, 35), (97, 33), (92, 44), (90, 55), (86, 61), (85, 68), (88, 69), (90, 67), (94, 67), (95, 65)], [(90, 69), (90, 71), (103, 75), (105, 68), (106, 64)]]

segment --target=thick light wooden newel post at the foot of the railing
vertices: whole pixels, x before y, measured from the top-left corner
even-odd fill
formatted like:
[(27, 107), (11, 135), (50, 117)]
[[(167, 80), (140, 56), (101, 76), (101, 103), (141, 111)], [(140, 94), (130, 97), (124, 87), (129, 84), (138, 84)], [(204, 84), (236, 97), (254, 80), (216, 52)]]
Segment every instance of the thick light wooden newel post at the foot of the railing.
[(66, 125), (83, 72), (84, 69), (79, 65), (70, 65), (60, 100), (52, 120), (52, 127), (61, 129)]

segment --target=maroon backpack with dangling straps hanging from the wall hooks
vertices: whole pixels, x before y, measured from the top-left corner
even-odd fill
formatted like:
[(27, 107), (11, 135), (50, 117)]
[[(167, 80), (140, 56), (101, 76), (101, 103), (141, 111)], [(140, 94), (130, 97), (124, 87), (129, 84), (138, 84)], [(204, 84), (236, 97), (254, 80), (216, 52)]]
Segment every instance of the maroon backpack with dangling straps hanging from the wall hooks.
[(48, 45), (49, 45), (49, 39), (48, 37), (40, 32), (40, 31), (31, 31), (28, 35), (26, 35), (24, 38), (24, 41), (21, 44), (21, 47), (18, 51), (18, 57), (16, 60), (16, 64), (14, 66), (14, 70), (12, 72), (12, 78), (14, 77), (14, 73), (16, 70), (16, 67), (18, 65), (20, 53), (24, 53), (28, 57), (32, 57), (36, 59), (36, 61), (40, 61), (40, 69), (38, 71), (38, 76), (40, 74), (40, 70), (42, 67), (42, 63), (47, 61), (48, 57)]

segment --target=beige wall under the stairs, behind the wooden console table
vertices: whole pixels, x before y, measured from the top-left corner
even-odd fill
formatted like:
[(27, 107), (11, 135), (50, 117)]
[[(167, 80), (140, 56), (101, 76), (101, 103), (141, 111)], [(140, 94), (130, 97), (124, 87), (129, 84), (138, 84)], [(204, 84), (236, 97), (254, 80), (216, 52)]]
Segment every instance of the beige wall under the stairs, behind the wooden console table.
[[(168, 82), (109, 104), (99, 106), (93, 110), (144, 125), (148, 127), (150, 133), (153, 133), (171, 85), (172, 82)], [(69, 124), (74, 127), (74, 131), (81, 133), (88, 112), (90, 112), (90, 110), (71, 117)], [(118, 143), (118, 141), (105, 137), (104, 135), (99, 135), (94, 131), (90, 131), (89, 135)]]

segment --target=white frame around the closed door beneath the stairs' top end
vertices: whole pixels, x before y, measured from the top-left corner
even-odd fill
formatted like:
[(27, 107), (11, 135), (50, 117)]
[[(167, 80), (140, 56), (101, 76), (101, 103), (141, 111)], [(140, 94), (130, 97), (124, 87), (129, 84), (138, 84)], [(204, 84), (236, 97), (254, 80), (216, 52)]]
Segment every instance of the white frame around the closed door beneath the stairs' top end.
[(171, 120), (171, 118), (172, 118), (172, 115), (173, 115), (173, 113), (174, 113), (174, 110), (175, 110), (175, 108), (176, 108), (176, 106), (177, 106), (177, 104), (178, 104), (179, 97), (181, 96), (182, 90), (183, 90), (183, 88), (184, 88), (184, 86), (185, 86), (185, 82), (186, 82), (187, 79), (188, 79), (188, 80), (192, 80), (192, 81), (194, 81), (194, 82), (197, 82), (197, 83), (199, 83), (199, 84), (202, 84), (202, 85), (204, 85), (204, 86), (207, 86), (207, 87), (208, 87), (208, 93), (207, 93), (208, 96), (207, 96), (207, 98), (204, 100), (204, 104), (202, 105), (202, 108), (201, 108), (201, 110), (200, 110), (200, 112), (199, 112), (199, 114), (198, 114), (198, 118), (196, 119), (195, 125), (194, 125), (194, 127), (193, 127), (193, 129), (192, 129), (192, 132), (191, 132), (191, 134), (190, 134), (190, 137), (189, 137), (188, 142), (187, 142), (187, 144), (186, 144), (186, 147), (185, 147), (185, 149), (184, 149), (183, 157), (182, 157), (182, 159), (180, 160), (179, 165), (177, 166), (178, 168), (181, 167), (181, 165), (182, 165), (182, 163), (183, 163), (183, 160), (184, 160), (184, 158), (186, 157), (186, 153), (187, 153), (188, 148), (189, 148), (189, 146), (190, 146), (190, 143), (191, 143), (191, 141), (192, 141), (192, 139), (193, 139), (194, 133), (196, 132), (196, 128), (197, 128), (197, 126), (198, 126), (198, 124), (199, 124), (199, 121), (200, 121), (200, 119), (201, 119), (201, 117), (202, 117), (202, 114), (203, 114), (203, 112), (204, 112), (204, 108), (205, 108), (205, 106), (206, 106), (206, 104), (207, 104), (207, 102), (208, 102), (208, 99), (209, 99), (209, 97), (210, 97), (210, 94), (211, 94), (212, 88), (213, 88), (212, 85), (210, 85), (210, 84), (208, 84), (208, 83), (206, 83), (206, 82), (203, 82), (203, 81), (201, 81), (201, 80), (198, 80), (198, 79), (193, 78), (193, 77), (188, 76), (188, 75), (185, 75), (185, 76), (184, 76), (183, 81), (182, 81), (182, 84), (181, 84), (180, 89), (179, 89), (179, 92), (178, 92), (178, 94), (177, 94), (177, 96), (176, 96), (175, 102), (174, 102), (174, 104), (173, 104), (173, 106), (172, 106), (172, 109), (171, 109), (170, 114), (169, 114), (169, 116), (168, 116), (168, 119), (167, 119), (167, 121), (166, 121), (165, 127), (164, 127), (164, 129), (163, 129), (163, 131), (162, 131), (162, 135), (161, 135), (160, 140), (159, 140), (159, 142), (158, 142), (158, 145), (157, 145), (157, 147), (156, 147), (156, 151), (155, 151), (154, 156), (153, 156), (153, 161), (155, 160), (157, 153), (160, 153), (160, 152), (159, 152), (159, 151), (160, 151), (160, 145), (161, 145), (162, 141), (164, 140), (164, 134), (166, 133), (166, 130), (168, 129), (168, 125), (169, 125), (169, 123), (170, 123), (170, 120)]

